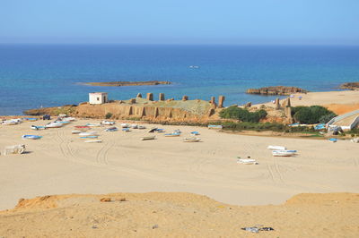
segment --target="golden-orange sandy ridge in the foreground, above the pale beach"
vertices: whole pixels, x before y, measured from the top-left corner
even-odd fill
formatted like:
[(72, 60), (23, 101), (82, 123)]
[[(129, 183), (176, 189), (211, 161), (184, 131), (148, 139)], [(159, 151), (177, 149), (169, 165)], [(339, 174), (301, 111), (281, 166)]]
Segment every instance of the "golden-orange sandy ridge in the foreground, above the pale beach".
[[(106, 198), (109, 202), (101, 202)], [(126, 200), (126, 201), (125, 201)], [(359, 194), (300, 194), (239, 207), (190, 193), (63, 195), (0, 212), (4, 237), (358, 237)], [(274, 231), (251, 234), (242, 227)]]

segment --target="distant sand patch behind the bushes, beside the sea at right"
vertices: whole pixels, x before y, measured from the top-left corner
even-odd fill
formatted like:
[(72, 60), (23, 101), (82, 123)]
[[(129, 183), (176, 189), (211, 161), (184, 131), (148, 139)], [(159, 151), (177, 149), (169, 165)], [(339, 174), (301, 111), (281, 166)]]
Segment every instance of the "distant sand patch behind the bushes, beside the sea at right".
[[(294, 96), (291, 98), (292, 106), (327, 106), (338, 115), (359, 109), (359, 90), (297, 93)], [(273, 103), (268, 102), (265, 105), (273, 106)]]

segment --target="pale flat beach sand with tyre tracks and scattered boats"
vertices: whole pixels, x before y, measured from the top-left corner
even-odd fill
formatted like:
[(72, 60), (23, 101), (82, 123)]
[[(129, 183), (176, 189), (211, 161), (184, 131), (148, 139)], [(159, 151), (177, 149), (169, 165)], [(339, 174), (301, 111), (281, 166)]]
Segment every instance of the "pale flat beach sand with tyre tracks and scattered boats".
[[(242, 136), (206, 128), (160, 126), (181, 137), (146, 131), (103, 132), (103, 143), (87, 144), (71, 134), (74, 125), (34, 132), (31, 123), (0, 126), (0, 149), (25, 143), (29, 154), (0, 156), (0, 209), (20, 198), (48, 194), (187, 191), (240, 205), (280, 204), (301, 192), (359, 191), (359, 145), (348, 140), (305, 140)], [(35, 124), (44, 124), (39, 121)], [(152, 125), (147, 125), (148, 127)], [(189, 132), (203, 142), (184, 143)], [(41, 140), (22, 140), (39, 134)], [(272, 157), (268, 145), (298, 149), (297, 157)], [(236, 163), (251, 156), (258, 166)]]

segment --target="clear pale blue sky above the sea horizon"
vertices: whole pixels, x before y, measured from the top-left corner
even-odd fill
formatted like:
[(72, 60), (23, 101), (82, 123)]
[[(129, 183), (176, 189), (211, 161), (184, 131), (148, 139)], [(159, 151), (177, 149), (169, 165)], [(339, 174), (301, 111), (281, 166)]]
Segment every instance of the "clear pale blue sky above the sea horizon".
[(0, 43), (359, 45), (359, 0), (0, 0)]

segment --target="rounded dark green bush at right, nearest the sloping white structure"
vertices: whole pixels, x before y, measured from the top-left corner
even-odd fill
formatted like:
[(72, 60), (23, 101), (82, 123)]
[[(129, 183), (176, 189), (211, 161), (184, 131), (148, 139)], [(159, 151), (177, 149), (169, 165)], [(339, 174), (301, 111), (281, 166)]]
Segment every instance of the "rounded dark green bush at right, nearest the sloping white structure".
[(296, 122), (306, 124), (328, 123), (331, 118), (337, 116), (323, 106), (292, 107), (292, 114)]

